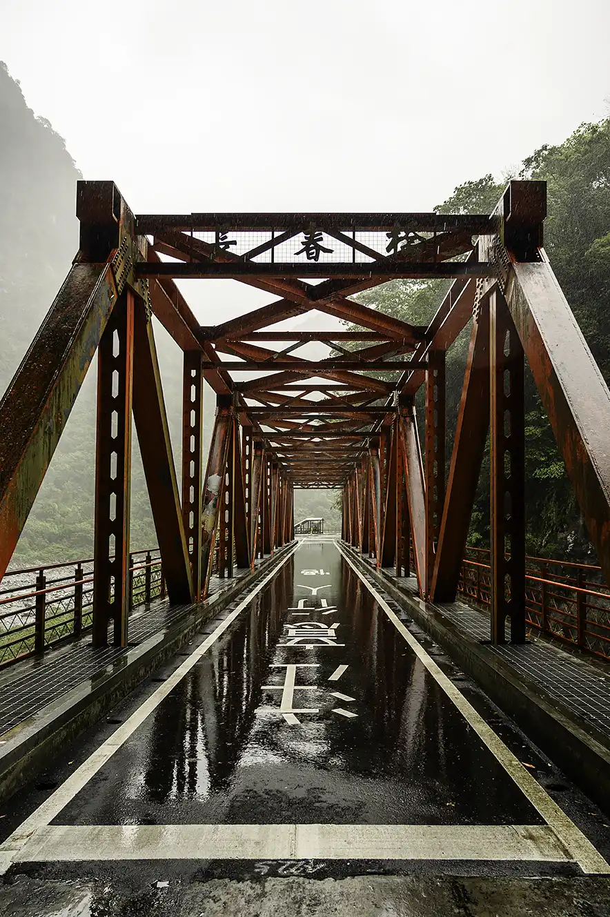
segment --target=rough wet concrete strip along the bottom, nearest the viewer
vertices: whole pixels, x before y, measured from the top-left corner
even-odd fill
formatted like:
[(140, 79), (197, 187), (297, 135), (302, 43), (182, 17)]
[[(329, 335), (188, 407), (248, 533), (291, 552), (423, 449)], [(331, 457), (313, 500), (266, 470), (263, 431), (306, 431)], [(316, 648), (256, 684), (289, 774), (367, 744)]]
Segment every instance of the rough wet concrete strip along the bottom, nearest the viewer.
[(52, 882), (0, 888), (12, 917), (608, 917), (606, 878), (269, 878), (156, 885)]

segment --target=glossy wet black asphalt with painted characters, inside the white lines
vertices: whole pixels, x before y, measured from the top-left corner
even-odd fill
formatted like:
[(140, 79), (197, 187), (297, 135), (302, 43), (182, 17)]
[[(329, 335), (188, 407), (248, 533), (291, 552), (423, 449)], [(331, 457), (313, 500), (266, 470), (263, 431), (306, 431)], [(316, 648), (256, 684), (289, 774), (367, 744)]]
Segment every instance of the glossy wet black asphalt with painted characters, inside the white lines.
[(305, 542), (56, 823), (541, 823), (337, 547)]

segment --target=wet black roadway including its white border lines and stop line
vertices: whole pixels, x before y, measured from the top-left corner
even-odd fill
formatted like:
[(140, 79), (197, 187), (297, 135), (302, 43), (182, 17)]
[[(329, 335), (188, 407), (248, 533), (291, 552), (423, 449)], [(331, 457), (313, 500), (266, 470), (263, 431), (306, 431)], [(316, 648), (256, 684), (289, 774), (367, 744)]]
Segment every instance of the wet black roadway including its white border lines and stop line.
[(604, 871), (435, 653), (338, 545), (306, 540), (134, 698), (0, 846), (0, 871)]

